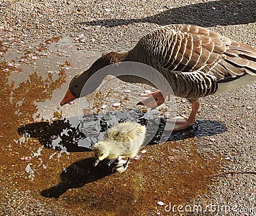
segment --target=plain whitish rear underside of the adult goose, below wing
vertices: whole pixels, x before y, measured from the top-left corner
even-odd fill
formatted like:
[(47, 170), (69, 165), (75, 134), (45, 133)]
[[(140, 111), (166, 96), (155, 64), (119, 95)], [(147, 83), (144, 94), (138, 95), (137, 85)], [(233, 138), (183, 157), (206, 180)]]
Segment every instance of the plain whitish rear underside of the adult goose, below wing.
[(250, 74), (244, 75), (243, 77), (240, 77), (234, 81), (218, 83), (218, 90), (213, 95), (220, 95), (226, 91), (230, 91), (251, 83), (256, 83), (256, 76)]

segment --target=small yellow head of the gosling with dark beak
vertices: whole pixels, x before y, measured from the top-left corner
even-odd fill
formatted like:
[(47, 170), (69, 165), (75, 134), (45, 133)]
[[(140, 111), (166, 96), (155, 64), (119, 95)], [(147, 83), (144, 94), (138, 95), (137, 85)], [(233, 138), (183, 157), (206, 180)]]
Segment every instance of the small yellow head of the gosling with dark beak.
[(101, 160), (104, 160), (109, 156), (108, 143), (104, 141), (96, 143), (93, 148), (93, 153), (95, 159), (93, 166), (97, 166)]

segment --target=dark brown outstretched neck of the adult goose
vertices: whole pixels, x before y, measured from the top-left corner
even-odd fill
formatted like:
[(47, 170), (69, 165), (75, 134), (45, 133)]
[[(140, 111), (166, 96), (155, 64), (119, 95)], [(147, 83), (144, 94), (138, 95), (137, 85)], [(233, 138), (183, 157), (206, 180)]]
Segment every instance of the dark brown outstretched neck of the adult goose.
[[(113, 65), (115, 63), (121, 64)], [(175, 79), (172, 79), (175, 75), (138, 49), (124, 53), (109, 52), (97, 59), (81, 76), (84, 81), (90, 78), (89, 83), (93, 85), (90, 89), (94, 91), (106, 75), (113, 75), (124, 82), (145, 83), (166, 93), (172, 93), (169, 90), (176, 88)]]

